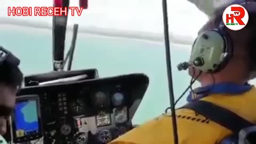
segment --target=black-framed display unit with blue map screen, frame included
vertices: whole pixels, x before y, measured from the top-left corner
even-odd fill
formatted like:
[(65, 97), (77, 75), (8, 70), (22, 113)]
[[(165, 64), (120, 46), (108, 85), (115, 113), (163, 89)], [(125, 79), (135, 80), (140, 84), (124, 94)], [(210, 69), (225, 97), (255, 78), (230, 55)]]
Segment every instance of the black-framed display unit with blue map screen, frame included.
[(18, 98), (12, 115), (13, 140), (33, 140), (41, 137), (39, 99), (36, 95)]

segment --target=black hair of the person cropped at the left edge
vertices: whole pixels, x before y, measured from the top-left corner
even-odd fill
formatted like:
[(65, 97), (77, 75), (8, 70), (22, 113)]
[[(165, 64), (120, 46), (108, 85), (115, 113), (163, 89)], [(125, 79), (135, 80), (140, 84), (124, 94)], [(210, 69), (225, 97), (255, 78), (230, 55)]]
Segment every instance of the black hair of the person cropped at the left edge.
[(13, 66), (8, 62), (0, 65), (0, 83), (11, 86), (13, 89), (19, 89), (23, 82), (23, 74), (19, 67)]

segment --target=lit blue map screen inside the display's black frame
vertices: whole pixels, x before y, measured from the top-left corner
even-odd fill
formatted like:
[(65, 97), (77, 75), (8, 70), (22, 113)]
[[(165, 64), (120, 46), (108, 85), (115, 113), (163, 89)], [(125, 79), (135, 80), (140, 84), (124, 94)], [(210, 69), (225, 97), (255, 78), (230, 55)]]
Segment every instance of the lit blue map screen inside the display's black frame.
[(38, 133), (38, 114), (37, 114), (37, 102), (26, 101), (19, 102), (15, 106), (15, 125), (17, 137), (23, 137), (25, 135)]

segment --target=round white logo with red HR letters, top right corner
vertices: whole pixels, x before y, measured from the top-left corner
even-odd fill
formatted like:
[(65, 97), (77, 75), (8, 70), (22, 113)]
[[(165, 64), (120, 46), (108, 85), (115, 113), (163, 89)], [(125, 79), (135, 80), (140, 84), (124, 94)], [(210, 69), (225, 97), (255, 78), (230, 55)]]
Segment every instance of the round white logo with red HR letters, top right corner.
[(247, 25), (249, 14), (242, 5), (233, 4), (225, 9), (222, 20), (228, 29), (241, 30)]

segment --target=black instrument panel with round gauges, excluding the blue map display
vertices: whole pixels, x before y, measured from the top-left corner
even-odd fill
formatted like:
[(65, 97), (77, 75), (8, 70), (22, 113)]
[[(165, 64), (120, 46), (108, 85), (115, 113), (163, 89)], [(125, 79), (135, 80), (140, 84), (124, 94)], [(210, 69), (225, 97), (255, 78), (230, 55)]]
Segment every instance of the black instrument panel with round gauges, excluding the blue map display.
[(131, 119), (147, 86), (148, 77), (132, 74), (27, 87), (19, 97), (38, 95), (43, 143), (103, 144), (132, 129)]

